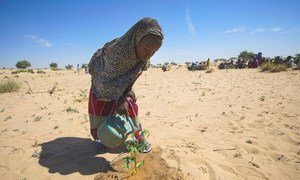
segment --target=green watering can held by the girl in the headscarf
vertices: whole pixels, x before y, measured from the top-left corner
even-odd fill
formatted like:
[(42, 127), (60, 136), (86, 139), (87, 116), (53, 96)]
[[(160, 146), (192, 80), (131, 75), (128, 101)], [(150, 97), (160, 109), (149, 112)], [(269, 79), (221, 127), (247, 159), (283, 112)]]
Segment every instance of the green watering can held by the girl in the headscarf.
[(137, 129), (130, 117), (115, 114), (106, 118), (98, 128), (97, 135), (106, 147), (117, 148)]

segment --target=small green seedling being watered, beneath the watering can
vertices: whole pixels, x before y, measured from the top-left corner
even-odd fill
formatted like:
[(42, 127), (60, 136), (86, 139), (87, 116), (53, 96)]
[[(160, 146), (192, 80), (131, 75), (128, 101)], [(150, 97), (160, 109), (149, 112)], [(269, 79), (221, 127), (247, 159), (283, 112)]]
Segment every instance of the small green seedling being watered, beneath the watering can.
[[(141, 131), (140, 136), (148, 137), (149, 131), (147, 130)], [(129, 151), (129, 155), (123, 157), (123, 168), (127, 170), (131, 170), (130, 175), (134, 175), (138, 172), (140, 167), (142, 167), (145, 164), (144, 161), (138, 161), (138, 155), (145, 150), (146, 142), (144, 140), (141, 140), (141, 142), (138, 142), (136, 140), (130, 140), (125, 142), (125, 144)]]

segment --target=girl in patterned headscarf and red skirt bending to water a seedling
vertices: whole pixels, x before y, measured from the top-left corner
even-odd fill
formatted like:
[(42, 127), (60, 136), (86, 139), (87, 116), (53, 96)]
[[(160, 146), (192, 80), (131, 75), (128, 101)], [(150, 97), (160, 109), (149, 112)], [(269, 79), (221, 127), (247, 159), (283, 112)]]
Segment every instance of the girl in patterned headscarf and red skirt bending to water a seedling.
[[(105, 147), (97, 137), (97, 129), (106, 117), (119, 113), (129, 116), (142, 130), (138, 121), (138, 106), (132, 91), (136, 79), (150, 63), (150, 58), (161, 47), (163, 33), (158, 22), (143, 18), (123, 36), (112, 40), (98, 49), (89, 63), (92, 85), (89, 95), (89, 117), (91, 135), (98, 153), (105, 153)], [(146, 142), (144, 152), (151, 151)]]

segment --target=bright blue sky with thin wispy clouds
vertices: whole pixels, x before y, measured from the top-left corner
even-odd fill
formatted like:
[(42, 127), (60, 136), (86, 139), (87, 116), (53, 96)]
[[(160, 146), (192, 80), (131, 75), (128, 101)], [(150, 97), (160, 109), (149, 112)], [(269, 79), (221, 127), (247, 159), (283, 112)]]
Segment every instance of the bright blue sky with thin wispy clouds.
[(299, 0), (0, 0), (0, 67), (88, 63), (143, 17), (165, 35), (152, 64), (300, 53)]

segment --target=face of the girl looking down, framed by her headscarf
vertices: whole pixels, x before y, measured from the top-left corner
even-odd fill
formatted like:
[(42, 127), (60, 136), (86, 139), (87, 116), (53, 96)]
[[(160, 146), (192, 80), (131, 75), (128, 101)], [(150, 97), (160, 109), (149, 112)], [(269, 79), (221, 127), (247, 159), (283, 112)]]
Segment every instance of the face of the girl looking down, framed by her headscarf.
[(160, 48), (161, 44), (162, 40), (160, 38), (142, 38), (136, 47), (137, 58), (142, 61), (148, 61)]

